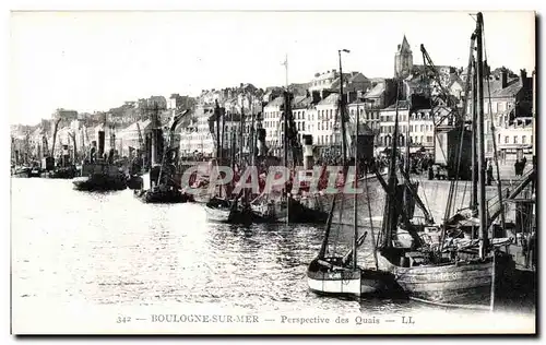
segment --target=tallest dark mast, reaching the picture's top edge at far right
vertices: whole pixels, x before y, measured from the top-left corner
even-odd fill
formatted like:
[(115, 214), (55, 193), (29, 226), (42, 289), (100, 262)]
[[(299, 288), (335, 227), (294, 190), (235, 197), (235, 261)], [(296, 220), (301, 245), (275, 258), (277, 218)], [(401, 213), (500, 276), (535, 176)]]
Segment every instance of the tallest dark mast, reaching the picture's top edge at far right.
[(483, 23), (482, 12), (477, 14), (477, 127), (478, 127), (478, 204), (479, 204), (479, 258), (484, 259), (488, 245), (487, 238), (487, 213), (485, 195), (485, 147), (484, 147), (484, 60), (483, 60)]

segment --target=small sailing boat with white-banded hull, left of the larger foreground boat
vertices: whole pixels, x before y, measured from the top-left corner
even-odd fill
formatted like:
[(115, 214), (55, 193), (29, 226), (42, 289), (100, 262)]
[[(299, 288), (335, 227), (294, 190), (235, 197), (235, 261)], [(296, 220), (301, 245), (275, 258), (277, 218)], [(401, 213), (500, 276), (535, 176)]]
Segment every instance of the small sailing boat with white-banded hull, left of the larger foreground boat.
[[(358, 112), (356, 120), (356, 145), (355, 145), (355, 171), (358, 166)], [(371, 234), (371, 245), (375, 247), (376, 240), (373, 236), (372, 216), (371, 207), (368, 192), (367, 177), (366, 181), (366, 193), (368, 195), (368, 212), (370, 222), (370, 234)], [(358, 187), (358, 178), (355, 176), (355, 189)], [(335, 247), (333, 252), (329, 253), (329, 241), (331, 239), (331, 228), (332, 218), (334, 214), (334, 207), (336, 200), (340, 198), (339, 194), (334, 195), (332, 201), (332, 207), (330, 210), (329, 218), (327, 222), (327, 229), (324, 234), (324, 239), (322, 241), (321, 249), (318, 257), (311, 261), (307, 270), (307, 282), (309, 289), (317, 294), (327, 295), (351, 295), (351, 296), (361, 296), (367, 294), (379, 294), (391, 292), (395, 288), (393, 276), (387, 272), (378, 270), (378, 259), (376, 248), (372, 248), (372, 253), (375, 257), (375, 269), (361, 267), (358, 265), (357, 249), (364, 243), (368, 233), (364, 233), (358, 236), (358, 194), (354, 193), (354, 227), (352, 236), (352, 249), (347, 251), (344, 255), (336, 254)], [(341, 198), (344, 198), (343, 195)], [(340, 217), (343, 213), (344, 200), (341, 200)], [(341, 221), (341, 219), (340, 219)], [(343, 224), (341, 223), (339, 231), (342, 231)]]

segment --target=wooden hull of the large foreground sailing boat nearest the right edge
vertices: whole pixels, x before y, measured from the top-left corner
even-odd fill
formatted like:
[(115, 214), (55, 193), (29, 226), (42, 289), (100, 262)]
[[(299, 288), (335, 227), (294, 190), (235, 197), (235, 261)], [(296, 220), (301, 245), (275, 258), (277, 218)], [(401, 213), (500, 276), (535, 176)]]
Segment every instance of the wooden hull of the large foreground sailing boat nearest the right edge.
[[(496, 283), (507, 270), (507, 258), (495, 262)], [(490, 302), (492, 259), (446, 265), (399, 266), (378, 253), (379, 270), (390, 272), (411, 297), (425, 301), (454, 305)]]

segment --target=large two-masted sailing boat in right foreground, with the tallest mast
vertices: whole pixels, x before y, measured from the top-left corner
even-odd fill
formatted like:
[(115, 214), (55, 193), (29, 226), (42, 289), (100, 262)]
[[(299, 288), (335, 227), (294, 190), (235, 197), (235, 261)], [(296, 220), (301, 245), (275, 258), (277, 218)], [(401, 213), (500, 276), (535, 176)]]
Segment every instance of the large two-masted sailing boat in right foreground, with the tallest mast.
[[(477, 79), (483, 81), (482, 64), (482, 25), (483, 15), (477, 15)], [(484, 111), (483, 87), (478, 87), (478, 165), (484, 167)], [(463, 126), (463, 124), (461, 124)], [(399, 133), (399, 118), (395, 116), (394, 138)], [(396, 151), (396, 141), (392, 144)], [(475, 159), (475, 157), (473, 157)], [(501, 277), (510, 270), (511, 258), (498, 250), (499, 243), (488, 238), (490, 222), (486, 213), (485, 178), (479, 178), (479, 250), (475, 252), (472, 246), (446, 246), (446, 228), (438, 249), (430, 249), (424, 243), (414, 248), (396, 246), (394, 234), (402, 216), (403, 206), (397, 197), (396, 177), (394, 175), (394, 155), (391, 156), (389, 171), (388, 195), (382, 228), (382, 241), (378, 248), (378, 264), (382, 271), (391, 272), (396, 283), (406, 290), (411, 298), (436, 305), (483, 308), (480, 302), (490, 302), (492, 308), (495, 292)], [(483, 169), (485, 171), (485, 169)], [(455, 239), (451, 239), (454, 242)], [(489, 298), (487, 298), (489, 297)]]

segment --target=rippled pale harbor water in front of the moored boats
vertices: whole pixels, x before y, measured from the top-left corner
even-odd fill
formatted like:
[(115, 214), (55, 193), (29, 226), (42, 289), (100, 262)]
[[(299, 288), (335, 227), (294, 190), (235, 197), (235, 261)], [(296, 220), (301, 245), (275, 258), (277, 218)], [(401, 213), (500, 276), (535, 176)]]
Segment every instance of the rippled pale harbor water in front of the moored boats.
[[(144, 204), (131, 190), (79, 192), (70, 180), (13, 178), (11, 198), (14, 308), (33, 300), (340, 314), (436, 308), (310, 293), (306, 270), (323, 237), (320, 225), (212, 224), (200, 204)], [(380, 215), (382, 204), (372, 213)], [(369, 238), (359, 252), (366, 264)]]

